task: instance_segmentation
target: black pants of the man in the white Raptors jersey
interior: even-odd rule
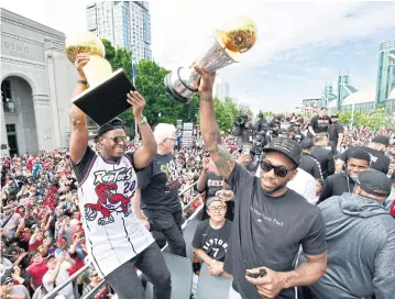
[[[139,255],[129,259],[106,276],[106,281],[119,299],[144,299],[144,288],[135,272],[140,269],[154,287],[154,299],[169,299],[172,278],[163,254],[156,243],[152,243]]]

